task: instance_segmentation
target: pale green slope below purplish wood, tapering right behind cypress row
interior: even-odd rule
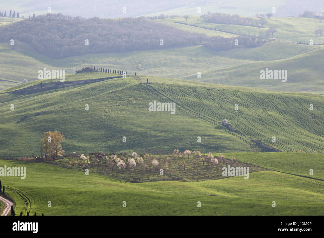
[[[194,72],[221,69],[249,60],[231,59],[203,46],[184,47],[168,50],[134,51],[128,53],[88,54],[53,60],[33,51],[20,43],[19,50],[11,50],[7,43],[0,44],[0,79],[21,83],[23,79],[37,80],[38,70],[64,69],[66,74],[75,73],[86,66],[128,70],[145,75],[157,75],[170,78],[182,77]],[[5,84],[6,83],[6,84]],[[0,81],[0,89],[13,86],[14,83]]]

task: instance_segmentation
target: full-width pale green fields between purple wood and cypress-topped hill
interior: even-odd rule
[[[222,52],[195,46],[119,54],[88,54],[59,60],[40,55],[23,43],[19,43],[17,48],[11,50],[8,44],[0,45],[3,56],[0,59],[0,89],[18,85],[23,79],[38,80],[38,70],[43,68],[64,69],[65,73],[69,74],[81,67],[96,65],[129,70],[131,74],[137,72],[142,75],[210,83],[324,94],[321,80],[323,48],[320,46],[275,41],[258,48]],[[287,83],[276,82],[278,80],[260,80],[260,70],[266,67],[288,70]],[[201,78],[197,78],[197,72],[202,72]],[[237,78],[237,75],[241,77]]]

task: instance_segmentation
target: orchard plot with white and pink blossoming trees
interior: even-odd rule
[[[226,158],[212,152],[206,154],[200,151],[175,149],[169,155],[139,154],[105,154],[103,156],[85,155],[65,156],[64,159],[49,161],[62,167],[120,178],[129,182],[149,181],[200,181],[206,179],[224,178],[222,167],[227,165],[250,167],[250,173],[263,171],[263,168],[249,162],[239,162],[235,157]]]

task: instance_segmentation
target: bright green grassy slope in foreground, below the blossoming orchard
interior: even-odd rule
[[[272,171],[250,174],[249,179],[130,184],[47,164],[0,161],[1,167],[5,164],[26,167],[25,179],[2,178],[17,202],[15,210],[24,214],[28,210],[45,215],[320,215],[324,209],[323,181]]]

